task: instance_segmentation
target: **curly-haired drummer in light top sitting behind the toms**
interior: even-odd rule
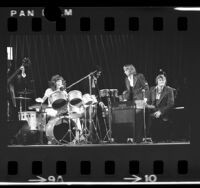
[[[51,77],[51,80],[49,81],[49,88],[46,89],[44,96],[42,98],[36,98],[36,102],[44,103],[46,99],[48,99],[48,106],[52,107],[52,104],[50,102],[50,96],[55,92],[55,91],[63,91],[66,95],[66,100],[67,100],[67,92],[65,90],[66,88],[66,81],[63,79],[62,76],[56,74]]]

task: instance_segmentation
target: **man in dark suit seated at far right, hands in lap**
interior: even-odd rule
[[[166,85],[164,74],[156,77],[156,86],[150,88],[147,107],[149,109],[148,135],[153,141],[169,138],[169,111],[174,105],[173,89]]]

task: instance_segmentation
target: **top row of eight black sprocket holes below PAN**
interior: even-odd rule
[[[19,24],[20,22],[20,24]],[[79,20],[79,29],[82,32],[89,32],[92,30],[93,23],[91,23],[90,17],[81,17]],[[40,32],[43,30],[43,20],[40,17],[31,18],[31,26],[30,30],[33,32]],[[116,21],[114,17],[105,17],[103,18],[104,31],[115,31],[116,29]],[[8,18],[7,21],[7,29],[9,32],[17,32],[23,23],[18,21],[17,18]],[[153,17],[152,19],[152,30],[153,31],[163,31],[164,30],[164,18],[163,17]],[[68,25],[68,27],[70,27]],[[178,31],[187,31],[188,30],[188,19],[187,17],[178,17],[177,18],[177,28]],[[66,18],[60,18],[56,21],[55,24],[56,31],[67,31],[67,21]],[[140,19],[139,17],[129,17],[128,19],[128,31],[139,31],[140,30]]]

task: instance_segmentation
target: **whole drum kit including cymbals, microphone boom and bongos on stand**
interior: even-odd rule
[[[101,140],[97,131],[97,104],[98,100],[95,95],[91,93],[91,82],[94,71],[76,83],[89,78],[90,92],[82,94],[79,90],[71,90],[67,93],[62,90],[56,90],[49,96],[51,107],[43,104],[36,103],[22,111],[22,100],[30,100],[27,95],[31,94],[31,90],[20,91],[19,97],[19,120],[26,120],[31,131],[40,131],[42,135],[46,135],[48,144],[77,144],[77,143],[90,143],[88,138],[93,133],[96,134],[98,140]],[[72,84],[71,86],[75,85]],[[69,89],[69,86],[67,89]],[[24,96],[23,96],[24,95]],[[99,91],[100,98],[105,98],[108,101],[107,116],[111,117],[111,103],[119,100],[117,89],[102,89]],[[103,116],[104,120],[107,116]],[[96,118],[96,119],[95,119]],[[105,121],[104,121],[105,122]],[[109,118],[108,127],[106,127],[106,135],[103,139],[109,141],[111,139],[111,118]],[[91,128],[92,127],[92,128]],[[100,129],[100,128],[99,128]],[[43,138],[41,138],[43,140]],[[43,143],[43,141],[41,141]]]

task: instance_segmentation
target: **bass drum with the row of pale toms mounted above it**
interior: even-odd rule
[[[97,99],[93,95],[84,94],[81,91],[72,90],[67,99],[63,97],[62,91],[51,95],[52,108],[57,115],[46,124],[46,136],[49,144],[74,144],[88,143],[88,135],[85,133],[88,109],[92,108],[92,118],[95,116],[95,105]],[[87,129],[88,130],[88,129]]]

